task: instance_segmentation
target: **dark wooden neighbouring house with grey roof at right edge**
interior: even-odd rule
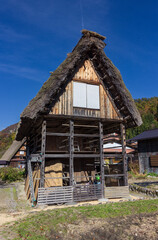
[[[140,173],[158,173],[158,128],[145,131],[131,141],[138,142]]]

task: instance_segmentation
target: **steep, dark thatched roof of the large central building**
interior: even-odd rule
[[[119,70],[113,65],[104,52],[104,36],[91,31],[83,30],[82,37],[73,51],[61,65],[51,73],[49,79],[43,84],[40,91],[33,98],[21,114],[21,122],[18,127],[17,140],[26,136],[29,126],[43,114],[48,114],[59,98],[61,91],[72,80],[75,73],[86,59],[89,59],[95,68],[99,78],[115,105],[120,109],[123,117],[128,116],[127,126],[139,126],[142,124],[140,114],[135,103],[124,85]]]

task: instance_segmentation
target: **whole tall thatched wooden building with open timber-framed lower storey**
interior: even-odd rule
[[[119,197],[128,195],[125,128],[142,121],[118,70],[103,51],[105,37],[82,33],[72,53],[21,115],[16,138],[27,137],[25,190],[32,204],[110,198],[118,192],[116,186],[121,189]],[[74,92],[74,85],[81,90]],[[83,95],[82,89],[92,92]],[[93,101],[81,104],[82,96],[88,103]],[[122,153],[104,154],[103,139],[114,132],[121,135]],[[110,163],[113,158],[119,159],[118,165]]]

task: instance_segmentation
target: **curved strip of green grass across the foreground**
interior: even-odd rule
[[[158,211],[158,199],[69,207],[36,213],[20,222],[15,222],[9,229],[13,236],[16,234],[14,240],[46,240],[50,239],[52,231],[58,234],[60,230],[64,234],[67,224],[73,224],[85,218],[105,219],[156,211]]]

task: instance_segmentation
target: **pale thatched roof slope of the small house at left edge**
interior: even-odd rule
[[[24,138],[22,141],[14,140],[12,145],[6,150],[6,152],[1,157],[0,161],[7,161],[9,162],[12,157],[17,153],[17,151],[22,147],[26,139]]]

